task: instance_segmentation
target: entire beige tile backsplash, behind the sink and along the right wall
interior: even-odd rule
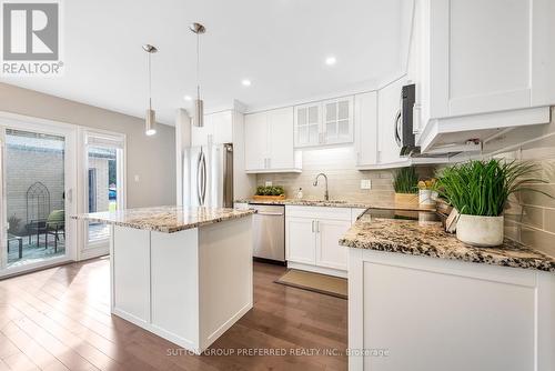
[[[532,184],[532,188],[555,197],[555,108],[552,109],[552,123],[536,130],[542,139],[529,141],[526,138],[525,144],[495,157],[536,162],[538,178],[547,182]],[[521,138],[529,131],[529,128],[519,128],[514,131],[514,136]],[[418,167],[417,171],[421,178],[426,178],[434,173],[434,168]],[[302,173],[258,174],[256,184],[264,186],[266,181],[271,181],[273,186],[283,186],[289,198],[294,198],[299,188],[302,188],[305,199],[323,199],[323,180],[317,187],[312,186],[320,172],[329,178],[332,200],[393,201],[394,170],[356,170],[354,150],[351,147],[304,150]],[[372,189],[361,189],[361,180],[364,179],[371,180]],[[555,198],[531,191],[512,197],[505,211],[505,235],[555,257]]]

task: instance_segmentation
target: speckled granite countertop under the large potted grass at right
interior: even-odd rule
[[[340,240],[349,248],[461,260],[555,272],[555,258],[505,240],[496,248],[476,248],[444,231],[441,222],[363,215]]]

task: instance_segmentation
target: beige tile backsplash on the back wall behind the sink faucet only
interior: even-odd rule
[[[283,186],[287,198],[294,198],[299,188],[303,189],[305,199],[324,198],[324,180],[319,186],[313,182],[320,172],[327,176],[331,200],[346,201],[393,201],[393,171],[355,169],[355,156],[352,147],[313,149],[303,151],[302,173],[258,174],[256,184],[264,186],[271,181],[273,186]],[[418,168],[418,174],[427,177],[433,170],[430,167]],[[369,179],[372,188],[361,189],[361,180]]]

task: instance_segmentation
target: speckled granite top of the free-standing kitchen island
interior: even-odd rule
[[[221,208],[155,207],[93,212],[79,214],[73,217],[73,219],[174,233],[230,219],[243,218],[252,213],[255,213],[255,211]]]

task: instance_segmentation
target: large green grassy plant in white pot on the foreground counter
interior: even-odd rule
[[[503,212],[509,195],[525,189],[544,193],[525,187],[545,182],[533,178],[536,171],[537,167],[531,162],[498,159],[474,160],[445,168],[437,190],[460,213],[457,239],[476,247],[502,244]]]

